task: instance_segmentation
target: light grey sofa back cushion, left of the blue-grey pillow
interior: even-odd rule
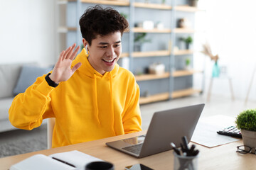
[[[13,96],[14,86],[21,72],[21,64],[0,65],[0,98]]]

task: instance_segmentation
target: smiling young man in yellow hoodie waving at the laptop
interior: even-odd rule
[[[61,52],[51,74],[14,98],[12,125],[32,130],[43,119],[55,118],[53,147],[142,130],[139,86],[134,75],[117,64],[127,28],[114,9],[88,8],[80,18],[87,52],[84,48],[75,58],[75,44]]]

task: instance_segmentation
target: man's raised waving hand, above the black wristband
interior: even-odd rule
[[[72,61],[75,58],[75,55],[78,53],[80,46],[75,48],[75,44],[71,47],[68,47],[65,51],[60,53],[60,57],[53,68],[52,74],[50,74],[50,79],[56,84],[59,84],[61,81],[67,81],[72,77],[74,72],[82,65],[82,63],[75,64],[71,69]],[[75,50],[74,50],[75,49]]]

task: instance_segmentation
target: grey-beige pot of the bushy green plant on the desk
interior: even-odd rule
[[[250,130],[241,130],[242,141],[248,147],[256,147],[256,132]]]

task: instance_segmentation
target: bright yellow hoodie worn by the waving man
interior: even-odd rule
[[[72,66],[78,62],[82,66],[56,88],[48,86],[43,75],[18,94],[9,109],[11,124],[32,130],[44,118],[56,118],[53,147],[142,130],[134,75],[118,64],[111,72],[98,73],[88,62],[85,49]]]

